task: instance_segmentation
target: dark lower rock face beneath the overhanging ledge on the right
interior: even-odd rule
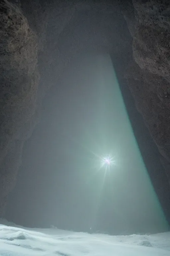
[[[137,110],[142,114],[155,143],[169,159],[169,150],[165,147],[170,141],[170,98],[166,97],[168,81],[141,69],[135,62],[129,65],[126,78]]]

